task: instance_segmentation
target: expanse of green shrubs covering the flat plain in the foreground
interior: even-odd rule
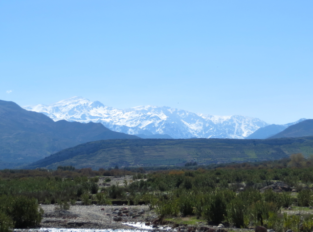
[[[226,223],[237,228],[263,225],[276,232],[313,230],[312,216],[282,213],[290,206],[313,204],[312,159],[306,159],[300,153],[293,154],[290,159],[228,164],[215,169],[184,166],[175,170],[134,170],[138,172],[63,167],[54,171],[2,170],[0,230],[37,225],[42,213],[38,203],[57,203],[56,210],[67,210],[69,202],[75,204],[77,200],[85,205],[112,204],[113,200],[146,204],[161,219],[179,223],[183,223],[183,219],[175,218],[183,216],[190,223]],[[113,182],[111,186],[99,189],[100,180],[105,183],[107,176],[122,175],[133,178],[124,181],[124,186]],[[296,192],[291,193],[289,187],[269,188],[282,182]],[[30,212],[27,217],[24,216],[26,211]]]

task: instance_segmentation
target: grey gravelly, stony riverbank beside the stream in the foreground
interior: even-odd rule
[[[155,212],[149,211],[148,206],[76,205],[69,210],[56,210],[55,205],[42,205],[42,208],[45,213],[40,226],[43,228],[134,229],[123,223],[156,219]]]

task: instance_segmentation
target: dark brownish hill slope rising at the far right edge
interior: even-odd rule
[[[308,119],[303,122],[292,125],[282,132],[269,137],[274,138],[296,138],[304,136],[313,136],[313,119]]]

